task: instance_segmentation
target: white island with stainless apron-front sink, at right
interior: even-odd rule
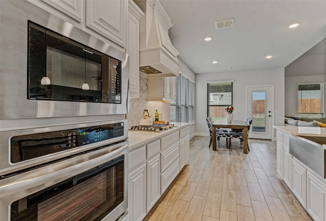
[[[326,220],[326,128],[274,126],[277,177],[314,220]]]

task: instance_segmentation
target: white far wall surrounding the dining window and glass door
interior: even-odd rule
[[[284,125],[284,68],[196,74],[196,135],[208,135],[206,123],[207,81],[223,80],[234,80],[233,106],[236,109],[232,113],[234,120],[244,120],[247,117],[244,109],[246,106],[246,86],[274,85],[274,109],[279,110],[278,114],[274,114],[274,125]]]

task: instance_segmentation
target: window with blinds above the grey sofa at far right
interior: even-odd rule
[[[300,117],[323,115],[323,84],[298,84],[298,114]]]

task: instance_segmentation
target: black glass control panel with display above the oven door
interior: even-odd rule
[[[124,123],[14,136],[10,139],[11,163],[123,136]]]

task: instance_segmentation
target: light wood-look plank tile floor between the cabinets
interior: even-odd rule
[[[285,184],[276,177],[276,142],[225,140],[218,150],[209,137],[190,142],[189,165],[148,220],[312,220]]]

